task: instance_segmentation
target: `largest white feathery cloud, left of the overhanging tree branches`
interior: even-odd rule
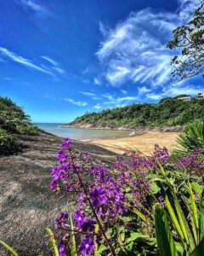
[[[199,0],[179,0],[177,12],[142,9],[106,28],[99,24],[104,40],[97,52],[105,66],[105,79],[114,87],[128,81],[158,87],[171,78],[169,62],[175,52],[167,49],[172,31],[190,18]]]

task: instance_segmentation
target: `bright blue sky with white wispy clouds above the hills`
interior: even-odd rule
[[[199,77],[171,82],[166,48],[196,0],[0,0],[0,95],[34,122],[195,95]]]

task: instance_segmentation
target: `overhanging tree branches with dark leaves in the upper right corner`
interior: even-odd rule
[[[181,49],[171,61],[173,80],[181,80],[201,74],[204,78],[204,2],[195,9],[192,20],[186,26],[178,26],[173,31],[173,39],[167,44],[169,49]]]

